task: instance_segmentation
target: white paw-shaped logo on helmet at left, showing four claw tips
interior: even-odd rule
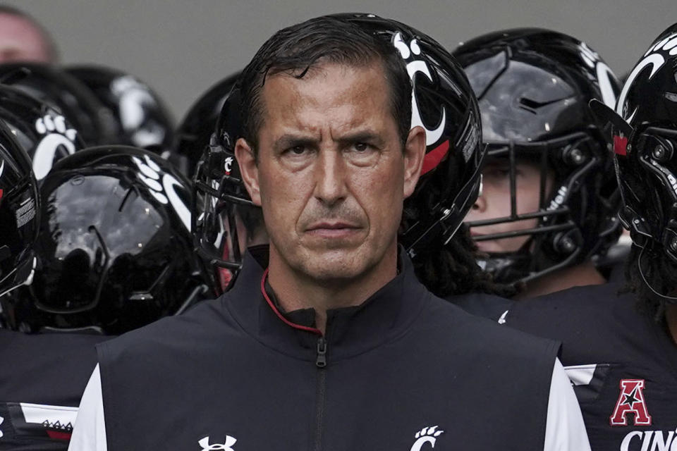
[[[75,137],[78,132],[68,128],[63,116],[49,114],[35,121],[35,131],[42,135],[42,140],[33,154],[33,172],[37,180],[42,180],[51,171],[55,159],[75,152]]]

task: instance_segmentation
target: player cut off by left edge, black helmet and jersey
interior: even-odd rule
[[[35,276],[41,198],[28,154],[0,121],[0,450],[63,451],[102,335],[8,330]]]

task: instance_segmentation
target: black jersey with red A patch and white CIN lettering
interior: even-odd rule
[[[607,283],[515,302],[508,326],[561,340],[592,450],[677,450],[677,347]]]

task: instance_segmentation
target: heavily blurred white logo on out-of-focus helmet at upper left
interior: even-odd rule
[[[147,121],[147,108],[157,108],[157,103],[148,87],[131,75],[116,78],[111,82],[111,92],[118,97],[120,122],[124,130],[132,132],[132,142],[137,147],[161,144],[164,130]]]

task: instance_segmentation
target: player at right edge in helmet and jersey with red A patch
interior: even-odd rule
[[[499,321],[562,340],[593,450],[677,449],[676,93],[677,24],[640,57],[615,112],[593,104],[614,129],[626,282],[515,302]]]

